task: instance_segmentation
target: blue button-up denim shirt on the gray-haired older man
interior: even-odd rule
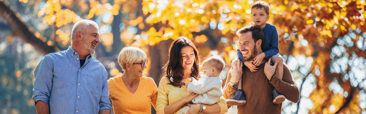
[[[79,55],[71,46],[47,54],[34,71],[34,102],[42,100],[51,114],[98,114],[111,110],[107,71],[91,55],[80,66]]]

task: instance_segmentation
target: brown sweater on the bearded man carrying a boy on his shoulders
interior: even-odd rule
[[[247,67],[243,67],[242,88],[247,104],[238,106],[238,114],[280,114],[281,104],[273,104],[273,88],[282,93],[286,99],[297,103],[300,99],[299,88],[292,78],[290,69],[287,65],[283,65],[283,80],[277,76],[273,76],[269,82],[264,74],[265,63],[259,65],[257,72],[250,72]],[[226,86],[224,87],[225,99],[231,98],[236,89],[228,85],[231,74],[228,74]],[[228,105],[228,107],[230,107]]]

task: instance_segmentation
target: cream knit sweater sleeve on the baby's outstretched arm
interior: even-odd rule
[[[187,91],[194,92],[196,94],[203,94],[215,87],[214,80],[211,78],[205,78],[205,80],[202,81],[203,82],[198,81],[199,83],[189,83],[187,86]]]

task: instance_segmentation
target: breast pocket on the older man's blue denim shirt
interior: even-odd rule
[[[85,80],[86,89],[92,94],[100,95],[102,92],[102,76],[97,73],[87,73]]]

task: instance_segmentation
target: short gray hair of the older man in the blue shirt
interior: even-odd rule
[[[72,27],[71,39],[74,39],[74,35],[76,34],[77,31],[81,31],[84,34],[85,28],[89,25],[94,25],[98,29],[98,24],[93,20],[87,20],[87,19],[78,20],[78,22],[76,22]]]

